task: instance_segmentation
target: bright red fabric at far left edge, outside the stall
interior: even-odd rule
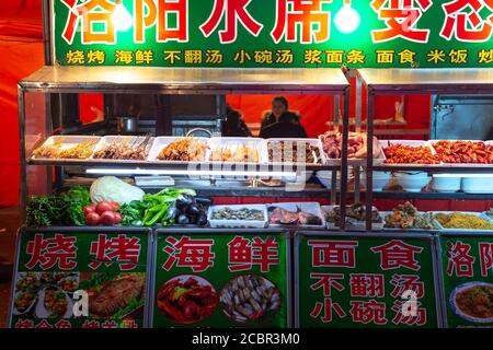
[[[0,1],[0,206],[19,200],[18,82],[43,67],[39,0]]]

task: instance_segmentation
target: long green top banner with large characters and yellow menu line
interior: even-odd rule
[[[484,0],[53,0],[60,65],[492,67]]]

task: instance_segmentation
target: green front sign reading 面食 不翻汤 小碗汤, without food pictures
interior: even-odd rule
[[[299,327],[438,327],[427,237],[298,235]]]

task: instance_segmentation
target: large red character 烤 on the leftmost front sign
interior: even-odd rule
[[[89,264],[91,269],[98,269],[103,262],[106,266],[118,262],[122,270],[133,270],[139,261],[140,238],[119,234],[108,240],[100,234],[98,241],[91,243],[90,254],[94,256],[94,261]]]

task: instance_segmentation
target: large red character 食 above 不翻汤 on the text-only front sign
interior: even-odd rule
[[[414,255],[423,252],[422,247],[394,240],[378,247],[372,247],[371,252],[380,254],[380,267],[383,270],[404,267],[417,271],[421,268]]]

